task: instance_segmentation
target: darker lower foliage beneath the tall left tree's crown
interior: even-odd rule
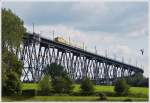
[[[12,55],[11,68],[7,65],[8,53]],[[19,95],[21,93],[21,71],[22,63],[17,60],[17,57],[7,51],[2,55],[2,95]]]

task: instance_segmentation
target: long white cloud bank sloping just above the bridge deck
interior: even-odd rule
[[[26,25],[28,31],[32,32],[32,26]],[[41,36],[52,39],[52,31],[55,31],[56,36],[63,36],[66,40],[71,38],[71,41],[76,41],[80,46],[83,42],[88,47],[87,50],[90,52],[95,52],[94,46],[97,47],[98,54],[105,56],[107,49],[108,57],[114,59],[116,55],[116,60],[122,61],[124,58],[125,63],[131,65],[136,64],[136,60],[141,61],[138,66],[144,65],[145,70],[147,70],[148,63],[145,60],[147,57],[140,57],[140,53],[137,53],[135,49],[127,44],[124,44],[124,39],[114,36],[114,34],[109,34],[105,32],[83,32],[74,29],[73,27],[68,27],[65,25],[37,25],[35,26],[35,32],[41,32]],[[128,35],[131,35],[130,33]],[[123,43],[122,43],[123,42]],[[139,60],[140,59],[140,60]],[[145,60],[145,61],[144,61]],[[142,62],[143,61],[143,62]],[[147,72],[145,72],[147,75]]]

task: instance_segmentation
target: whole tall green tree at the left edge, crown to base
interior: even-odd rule
[[[23,21],[10,9],[2,9],[2,95],[18,95],[21,92],[22,63],[17,51],[25,34]]]

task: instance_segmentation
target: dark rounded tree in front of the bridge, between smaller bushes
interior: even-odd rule
[[[47,65],[44,70],[45,74],[51,76],[52,87],[56,93],[70,93],[73,89],[73,82],[64,70],[63,66],[52,63]]]

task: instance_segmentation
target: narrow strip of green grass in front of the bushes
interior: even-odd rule
[[[108,97],[107,101],[124,101],[125,99],[133,101],[148,101],[148,98],[131,97]],[[3,97],[2,101],[99,101],[97,96],[34,96],[34,97]]]

